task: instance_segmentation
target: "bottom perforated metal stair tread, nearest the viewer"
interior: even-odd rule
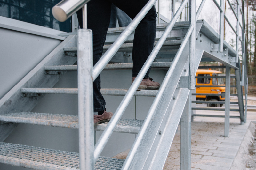
[[[31,169],[79,169],[79,153],[0,142],[0,163]],[[119,170],[123,159],[99,157],[95,169]]]

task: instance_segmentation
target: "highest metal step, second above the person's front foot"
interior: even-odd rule
[[[170,50],[178,50],[180,47],[180,44],[183,40],[170,40],[165,41],[160,51],[170,51]],[[155,42],[154,46],[156,45],[157,41]],[[111,47],[112,44],[107,44],[103,46],[103,53],[105,53],[108,48]],[[117,52],[132,52],[132,46],[133,43],[125,43],[123,44],[120,49]],[[71,48],[63,48],[65,55],[68,56],[77,56],[77,47],[71,47]]]

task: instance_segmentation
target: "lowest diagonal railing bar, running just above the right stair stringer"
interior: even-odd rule
[[[156,108],[157,108],[157,106],[159,104],[159,101],[161,101],[161,98],[162,98],[162,96],[164,94],[164,91],[165,91],[165,88],[166,88],[166,86],[168,84],[168,81],[170,80],[171,75],[174,73],[174,69],[177,66],[177,63],[178,63],[179,58],[180,58],[180,55],[181,55],[183,49],[185,48],[185,46],[186,46],[186,44],[187,44],[187,42],[188,42],[188,40],[190,38],[190,35],[191,35],[191,33],[192,33],[194,28],[195,28],[194,25],[191,25],[189,27],[188,32],[186,33],[186,35],[185,35],[185,37],[184,37],[184,39],[183,39],[183,41],[182,41],[182,43],[180,45],[180,48],[179,48],[178,52],[176,53],[176,55],[175,55],[175,57],[174,57],[174,59],[172,61],[172,65],[169,68],[169,70],[168,70],[168,72],[167,72],[167,74],[166,74],[166,76],[164,78],[164,81],[163,81],[163,83],[162,83],[162,85],[161,85],[161,87],[160,87],[160,89],[159,89],[159,91],[158,91],[158,93],[156,95],[156,98],[153,101],[153,104],[151,105],[151,107],[150,107],[150,109],[148,111],[147,117],[144,120],[144,122],[143,122],[143,124],[142,124],[142,126],[140,128],[139,133],[137,134],[137,137],[136,137],[136,139],[134,141],[134,144],[132,145],[132,148],[131,148],[129,154],[127,155],[127,157],[125,159],[125,162],[124,162],[124,165],[122,167],[122,170],[126,170],[126,169],[129,168],[129,166],[130,166],[130,164],[132,162],[132,159],[134,158],[134,156],[136,154],[136,151],[139,148],[140,142],[142,141],[143,136],[144,136],[144,134],[145,134],[145,132],[146,132],[146,130],[148,128],[148,125],[151,122],[151,120],[152,120],[152,118],[153,118],[153,116],[155,114],[155,111],[156,111]]]

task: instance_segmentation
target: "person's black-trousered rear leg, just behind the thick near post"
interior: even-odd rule
[[[107,0],[92,0],[87,4],[87,25],[93,33],[93,66],[103,53],[110,21],[111,3]],[[82,28],[82,10],[77,11],[77,18]],[[99,115],[104,113],[106,102],[100,93],[100,75],[93,82],[93,110]]]

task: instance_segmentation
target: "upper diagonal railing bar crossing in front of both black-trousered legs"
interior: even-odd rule
[[[94,65],[92,71],[93,81],[99,76],[100,72],[105,68],[111,58],[116,54],[118,49],[122,46],[127,37],[133,32],[136,26],[139,25],[140,21],[148,13],[150,8],[155,4],[156,0],[149,0],[148,3],[142,8],[142,10],[136,15],[132,22],[124,29],[123,33],[119,35],[116,41],[111,47],[105,52],[100,60]]]

